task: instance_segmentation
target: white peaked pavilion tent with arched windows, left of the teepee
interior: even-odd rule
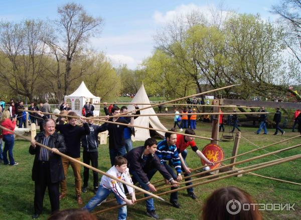
[[[84,81],[79,85],[79,87],[69,96],[64,96],[64,101],[69,104],[72,111],[76,112],[78,115],[82,115],[82,108],[86,102],[91,102],[92,104],[100,103],[100,97],[94,96],[86,87]],[[94,115],[99,115],[99,105],[94,105]]]

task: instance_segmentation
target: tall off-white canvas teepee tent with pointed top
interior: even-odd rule
[[[138,92],[136,93],[136,95],[134,96],[134,98],[131,101],[132,103],[149,103],[149,99],[147,97],[147,94],[145,92],[144,86],[142,84],[142,86],[140,87],[140,89],[138,90]],[[139,108],[143,108],[146,107],[148,105],[138,105]],[[134,106],[133,105],[128,105],[127,106],[128,111],[132,111],[134,110]],[[148,108],[148,109],[144,109],[140,111],[140,114],[156,114],[156,112],[154,111],[153,108]],[[152,127],[155,129],[161,129],[161,130],[166,130],[166,127],[161,124],[158,116],[143,116],[143,117],[138,117],[135,119],[134,121],[134,125],[139,125],[139,126],[143,126],[143,127]],[[150,126],[149,126],[150,125]],[[157,133],[159,133],[161,136],[165,135],[165,132],[161,132],[161,131],[157,131]],[[148,129],[144,129],[144,128],[136,128],[135,127],[135,140],[146,140],[147,138],[149,138],[149,130]]]

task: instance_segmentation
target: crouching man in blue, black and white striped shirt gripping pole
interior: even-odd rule
[[[177,151],[177,134],[173,134],[170,132],[165,133],[165,140],[160,141],[157,146],[156,154],[161,160],[161,164],[163,164],[167,171],[173,176],[174,180],[178,182],[182,180],[182,170],[181,170],[181,160]],[[167,163],[169,162],[169,164]],[[177,175],[174,172],[174,169],[171,165],[176,169]],[[153,169],[151,171],[150,176],[153,176],[157,172],[157,169]],[[171,189],[176,189],[177,187],[171,187]],[[180,208],[180,204],[178,203],[178,192],[172,192],[170,202],[174,207]]]

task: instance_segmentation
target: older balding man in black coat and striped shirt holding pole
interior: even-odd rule
[[[42,213],[46,187],[48,188],[51,212],[59,210],[59,183],[65,178],[61,156],[56,154],[66,151],[64,137],[55,132],[53,119],[44,120],[44,130],[36,135],[29,148],[30,154],[35,154],[32,170],[32,179],[35,181],[35,213],[32,218],[38,218]],[[51,151],[36,145],[37,142],[50,147]]]

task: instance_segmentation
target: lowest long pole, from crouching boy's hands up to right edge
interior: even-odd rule
[[[161,192],[161,193],[158,193],[157,195],[164,195],[164,194],[167,194],[167,193],[177,192],[177,191],[184,190],[184,189],[187,189],[187,188],[192,188],[192,187],[195,187],[195,186],[198,186],[198,185],[207,184],[207,183],[210,183],[210,182],[214,182],[214,181],[218,181],[218,180],[221,180],[221,179],[236,176],[238,174],[243,174],[243,173],[247,173],[247,172],[250,172],[250,171],[266,168],[266,167],[269,167],[269,166],[274,166],[274,165],[277,165],[277,164],[281,164],[281,163],[284,163],[284,162],[287,162],[287,161],[296,160],[296,159],[299,159],[299,158],[301,158],[301,154],[297,154],[297,155],[294,155],[294,156],[291,156],[291,157],[285,157],[285,158],[265,162],[264,165],[263,164],[255,164],[256,167],[248,169],[248,170],[241,170],[241,171],[235,172],[233,174],[228,174],[228,175],[221,176],[221,177],[218,177],[218,178],[198,182],[198,183],[195,183],[195,184],[192,184],[192,185],[188,185],[188,186],[180,187],[180,188],[177,188],[177,189]],[[212,176],[210,176],[210,177],[212,177]],[[139,199],[136,200],[136,202],[147,200],[149,198],[151,198],[151,196],[147,196],[147,197],[144,197],[144,198],[139,198]],[[106,211],[109,211],[109,210],[112,210],[112,209],[115,209],[115,208],[122,207],[124,205],[126,205],[126,204],[116,205],[116,206],[113,206],[113,207],[110,207],[110,208],[106,208],[106,209],[103,209],[103,210],[100,210],[100,211],[96,211],[93,214],[103,213],[103,212],[106,212]]]

